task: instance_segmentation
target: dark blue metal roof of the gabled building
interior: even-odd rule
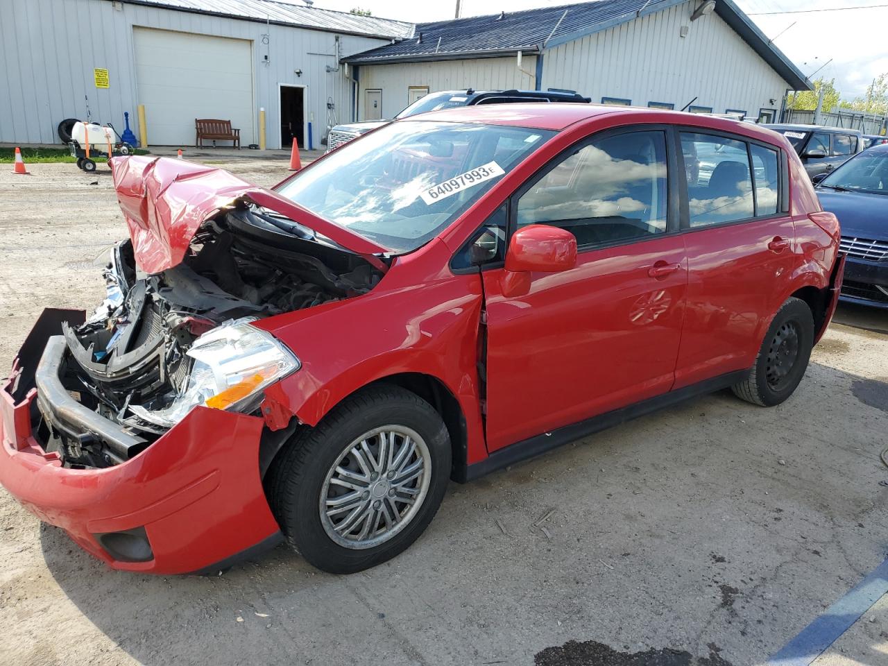
[[[409,39],[345,58],[354,65],[418,62],[539,53],[622,23],[662,12],[686,0],[599,0],[598,2],[501,12],[466,19],[418,23]],[[796,90],[811,83],[771,44],[732,0],[717,0],[716,13]]]

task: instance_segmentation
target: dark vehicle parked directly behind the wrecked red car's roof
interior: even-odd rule
[[[400,114],[394,116],[394,120],[408,118],[411,115],[424,114],[429,111],[440,111],[444,108],[473,107],[477,104],[514,104],[516,102],[575,102],[589,104],[591,99],[583,97],[576,91],[557,90],[550,88],[547,91],[475,91],[472,88],[463,91],[431,92],[417,99]],[[362,123],[340,124],[333,127],[327,136],[327,152],[336,150],[346,141],[357,139],[361,134],[376,130],[390,120],[369,120]]]

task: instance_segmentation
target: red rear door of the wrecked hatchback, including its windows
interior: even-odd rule
[[[797,264],[779,151],[712,133],[680,138],[688,288],[676,388],[752,366]]]

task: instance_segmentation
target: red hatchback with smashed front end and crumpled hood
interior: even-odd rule
[[[119,569],[286,538],[359,571],[450,479],[702,392],[779,404],[842,279],[787,140],[718,118],[440,111],[273,190],[113,171],[131,238],[96,312],[46,310],[22,347],[0,481]]]

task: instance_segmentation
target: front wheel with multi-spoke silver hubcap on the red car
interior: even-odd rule
[[[379,456],[384,446],[393,452],[391,466]],[[399,452],[405,452],[400,468]],[[410,469],[420,462],[416,476]],[[376,385],[344,400],[316,427],[297,431],[266,475],[266,496],[290,546],[314,567],[353,574],[392,559],[424,532],[444,497],[450,462],[438,412],[399,386]],[[357,476],[349,488],[338,485]],[[408,476],[415,478],[399,485]]]

